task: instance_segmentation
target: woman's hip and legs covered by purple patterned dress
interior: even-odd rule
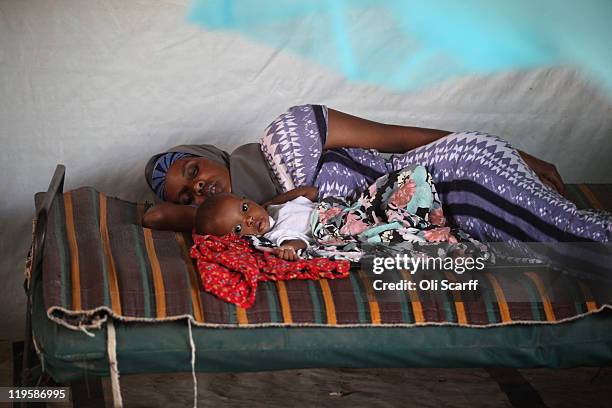
[[[497,136],[453,133],[389,159],[413,163],[432,174],[446,216],[482,241],[612,241],[611,215],[578,211]]]

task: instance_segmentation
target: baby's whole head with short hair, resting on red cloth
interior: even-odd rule
[[[248,198],[232,193],[215,194],[198,207],[195,229],[198,234],[222,236],[263,235],[270,230],[268,212]]]

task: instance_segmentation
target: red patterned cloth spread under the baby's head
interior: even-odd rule
[[[327,258],[285,261],[259,252],[237,235],[193,234],[191,257],[197,260],[204,290],[226,302],[249,308],[255,303],[257,283],[291,279],[338,279],[349,274],[349,261]]]

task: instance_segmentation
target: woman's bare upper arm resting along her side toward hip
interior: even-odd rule
[[[361,147],[380,152],[405,153],[451,132],[411,126],[387,125],[328,109],[325,149]]]

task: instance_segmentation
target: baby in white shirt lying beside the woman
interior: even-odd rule
[[[202,235],[263,235],[274,244],[274,255],[295,261],[296,250],[313,242],[310,218],[316,207],[316,187],[299,187],[263,205],[232,193],[209,197],[198,207],[195,230]]]

